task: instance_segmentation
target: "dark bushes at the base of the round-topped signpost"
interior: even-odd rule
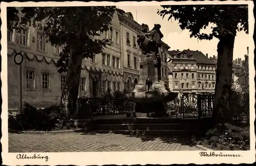
[[[70,122],[61,119],[61,109],[52,105],[44,109],[37,109],[29,103],[24,103],[21,114],[8,116],[8,127],[14,130],[50,131],[55,127],[70,127]]]

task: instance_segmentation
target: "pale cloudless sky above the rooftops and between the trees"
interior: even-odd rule
[[[155,23],[161,25],[161,32],[163,33],[163,42],[170,46],[169,50],[199,50],[204,54],[208,53],[208,57],[213,55],[217,56],[217,44],[219,40],[214,38],[212,40],[198,40],[196,38],[190,38],[188,30],[182,31],[178,24],[178,21],[169,20],[168,17],[162,17],[157,14],[160,6],[117,6],[117,8],[124,10],[125,12],[131,12],[134,20],[139,24],[145,23],[150,29]],[[137,16],[136,16],[137,12]],[[211,32],[210,26],[202,31],[204,33]],[[245,32],[238,32],[234,41],[233,59],[241,58],[244,60],[244,55],[247,54],[247,42],[249,35]]]

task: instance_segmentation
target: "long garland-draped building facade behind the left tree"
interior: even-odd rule
[[[22,92],[23,101],[36,107],[59,103],[61,91],[67,79],[66,73],[58,73],[55,67],[59,59],[60,46],[51,46],[42,34],[41,22],[30,21],[24,30],[8,31],[8,104],[18,107],[19,75],[14,63],[15,52],[22,52]],[[112,20],[112,31],[101,38],[113,41],[102,54],[82,62],[79,96],[97,96],[107,88],[123,89],[123,61],[120,22],[117,13]]]

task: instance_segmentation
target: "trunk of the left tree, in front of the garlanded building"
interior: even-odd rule
[[[69,67],[67,71],[67,81],[62,90],[60,107],[63,114],[67,118],[72,118],[76,110],[76,102],[78,97],[78,88],[80,84],[82,55],[76,55],[71,49]]]

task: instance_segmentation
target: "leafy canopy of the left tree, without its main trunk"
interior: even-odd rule
[[[69,63],[70,48],[76,54],[82,54],[83,58],[92,59],[110,44],[108,39],[97,37],[111,29],[114,12],[114,6],[8,7],[7,24],[9,30],[19,30],[28,21],[41,22],[47,42],[63,46],[57,67],[59,72],[64,72]]]

